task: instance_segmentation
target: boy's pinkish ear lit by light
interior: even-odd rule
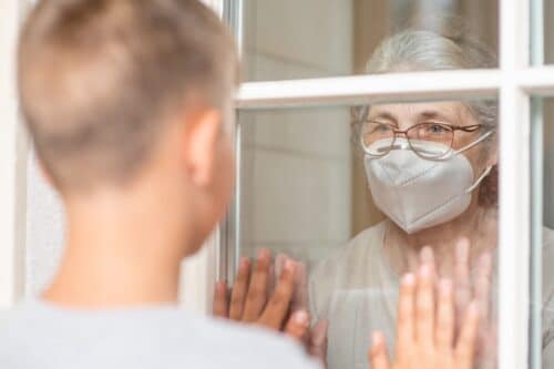
[[[189,177],[195,185],[207,186],[217,167],[222,114],[215,109],[195,111],[187,117],[184,134],[184,154]]]

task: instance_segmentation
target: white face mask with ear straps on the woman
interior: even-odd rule
[[[366,175],[376,205],[408,234],[455,218],[470,206],[472,191],[492,170],[489,166],[474,180],[473,167],[460,153],[489,134],[440,160],[418,156],[401,137],[382,157],[366,154]],[[390,140],[373,143],[378,146],[389,144]],[[445,152],[438,143],[420,142],[418,145],[430,153]],[[378,152],[378,147],[373,148],[372,152]]]

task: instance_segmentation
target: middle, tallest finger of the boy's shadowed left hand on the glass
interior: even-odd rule
[[[269,280],[269,266],[271,264],[271,253],[267,248],[258,252],[256,266],[250,277],[248,294],[243,314],[244,321],[256,321],[261,315],[261,310],[267,301],[267,284]]]

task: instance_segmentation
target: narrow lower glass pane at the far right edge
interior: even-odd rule
[[[532,339],[533,368],[554,367],[554,99],[533,101]],[[542,355],[538,352],[542,351]],[[538,358],[542,357],[542,366]]]

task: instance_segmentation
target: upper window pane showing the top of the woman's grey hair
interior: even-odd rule
[[[375,65],[366,68],[369,55],[384,37],[408,29],[434,31],[456,40],[464,38],[494,53],[497,50],[497,0],[244,0],[243,3],[248,81],[379,72]],[[452,44],[433,39],[427,42],[432,52],[420,55],[419,69],[496,66],[494,60],[464,58],[450,65],[434,62],[435,53],[448,51]],[[400,43],[392,47],[400,50],[409,45]],[[468,54],[462,51],[459,55]]]

